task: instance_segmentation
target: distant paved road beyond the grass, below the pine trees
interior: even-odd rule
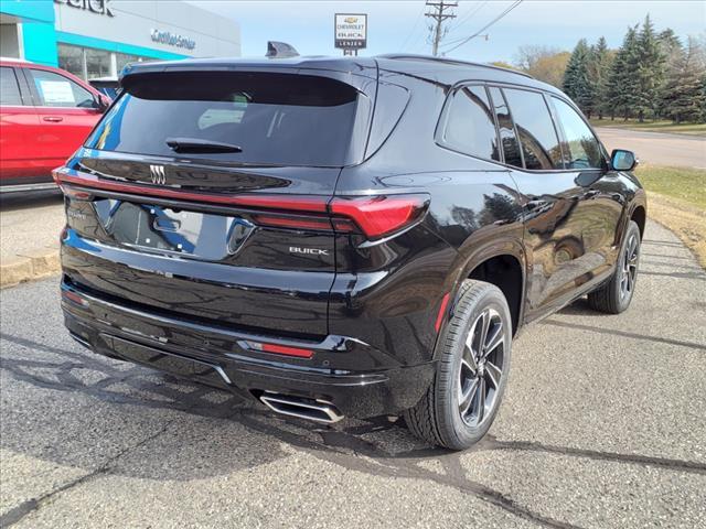
[[[706,169],[706,138],[610,127],[599,127],[596,131],[609,151],[634,151],[641,163]]]

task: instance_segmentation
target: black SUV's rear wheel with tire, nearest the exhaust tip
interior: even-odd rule
[[[485,321],[483,317],[488,317],[488,326],[480,323]],[[501,327],[498,327],[499,323]],[[479,325],[482,327],[480,331]],[[471,331],[472,346],[468,347],[467,338]],[[481,337],[483,331],[485,334]],[[482,339],[492,346],[493,337],[502,342],[492,350],[480,353],[478,360],[473,356],[473,371],[469,352],[473,354],[473,349],[485,350],[486,348],[478,344]],[[411,433],[428,443],[452,450],[466,450],[480,441],[490,429],[507,384],[512,319],[501,290],[482,281],[464,281],[453,316],[440,337],[439,348],[434,382],[421,400],[405,411],[405,421]],[[481,358],[483,354],[486,355],[484,359]],[[493,361],[501,364],[499,370],[499,366]],[[477,380],[475,386],[472,382],[473,377]],[[493,388],[492,381],[495,378],[499,380]],[[480,392],[483,392],[482,399]],[[491,399],[490,404],[486,404],[486,399]],[[468,403],[466,412],[462,411],[464,403]]]

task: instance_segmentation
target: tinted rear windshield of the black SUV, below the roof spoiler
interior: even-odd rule
[[[179,156],[168,141],[180,138],[239,148],[190,152],[190,159],[344,165],[360,97],[349,85],[317,76],[142,74],[126,77],[125,93],[86,147]]]

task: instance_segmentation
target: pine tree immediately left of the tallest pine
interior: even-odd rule
[[[608,75],[606,106],[611,119],[621,116],[627,120],[635,114],[638,55],[638,26],[628,28]]]

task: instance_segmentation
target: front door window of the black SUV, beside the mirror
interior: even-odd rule
[[[566,137],[565,151],[568,153],[569,169],[603,169],[600,143],[588,128],[586,121],[569,105],[552,97],[556,114]]]

